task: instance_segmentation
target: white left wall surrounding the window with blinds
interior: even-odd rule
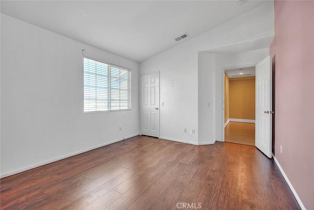
[[[83,113],[82,49],[132,68],[131,111]],[[139,132],[138,63],[3,14],[0,84],[1,177]]]

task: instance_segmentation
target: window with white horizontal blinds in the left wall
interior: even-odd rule
[[[131,71],[84,57],[84,112],[131,109]]]

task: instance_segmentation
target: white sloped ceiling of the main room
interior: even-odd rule
[[[1,0],[1,13],[141,62],[264,2]]]

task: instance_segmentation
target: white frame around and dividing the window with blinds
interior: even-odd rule
[[[117,68],[120,71],[121,70],[128,71],[128,79],[127,79],[128,80],[128,98],[130,98],[128,100],[128,104],[130,104],[130,105],[128,105],[129,108],[126,108],[126,109],[108,109],[108,110],[85,111],[85,59],[89,59],[89,60],[92,60],[92,61],[99,62],[99,63],[107,65],[107,87],[108,87],[108,90],[107,90],[108,91],[108,93],[107,93],[107,98],[108,98],[107,108],[109,108],[109,107],[111,108],[110,104],[112,102],[112,100],[111,100],[111,88],[110,88],[110,84],[111,84],[111,67]],[[112,111],[131,111],[132,110],[132,103],[131,103],[131,101],[132,101],[131,78],[132,78],[131,77],[131,69],[129,69],[129,68],[118,66],[118,65],[115,65],[115,64],[111,64],[111,63],[106,63],[104,61],[100,61],[100,60],[95,59],[95,58],[83,56],[83,113],[84,114],[88,114],[88,113],[112,112]],[[97,100],[95,102],[97,103]],[[119,102],[121,102],[121,98],[120,98]]]

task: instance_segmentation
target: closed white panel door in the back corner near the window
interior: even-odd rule
[[[141,134],[159,137],[159,73],[141,75]]]

